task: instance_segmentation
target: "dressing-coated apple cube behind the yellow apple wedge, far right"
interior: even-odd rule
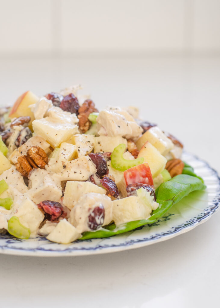
[[[173,142],[157,126],[150,128],[136,141],[136,146],[139,151],[147,141],[162,155],[166,155],[174,147]]]

